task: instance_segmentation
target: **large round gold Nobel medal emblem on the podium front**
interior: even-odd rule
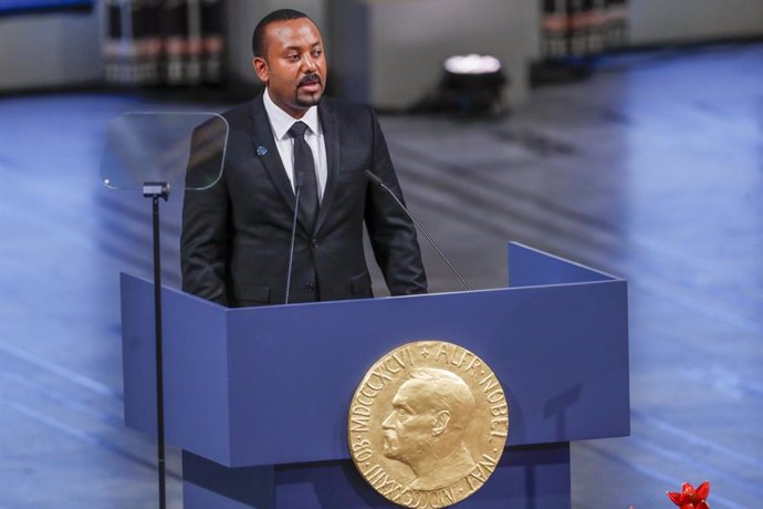
[[[509,404],[493,372],[443,341],[383,356],[349,405],[355,466],[404,507],[447,507],[472,495],[495,470],[508,434]]]

